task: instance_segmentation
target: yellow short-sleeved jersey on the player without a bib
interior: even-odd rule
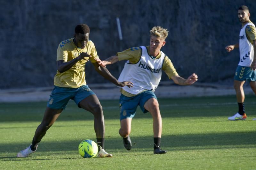
[[[73,38],[60,42],[57,49],[57,61],[63,60],[69,62],[78,57],[82,52],[90,54],[92,57],[86,57],[92,63],[97,62],[95,59],[98,57],[95,46],[91,40],[88,41],[85,48],[78,48],[74,44]],[[87,60],[80,60],[71,67],[71,69],[57,73],[54,77],[54,85],[59,87],[77,88],[86,85],[85,81],[85,63]]]

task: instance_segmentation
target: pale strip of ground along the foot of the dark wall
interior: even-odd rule
[[[112,84],[91,84],[89,87],[100,100],[119,99],[119,88]],[[0,90],[0,102],[48,101],[52,87]],[[250,87],[244,88],[245,94],[254,94]],[[233,86],[201,84],[181,86],[161,83],[155,94],[158,98],[193,97],[193,96],[223,96],[236,95]]]

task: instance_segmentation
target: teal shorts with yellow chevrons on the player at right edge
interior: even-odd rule
[[[251,70],[251,67],[237,66],[235,73],[237,81],[256,81],[256,70]]]

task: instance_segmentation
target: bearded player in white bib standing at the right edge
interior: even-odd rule
[[[230,121],[245,120],[246,114],[244,110],[244,89],[243,85],[246,80],[250,81],[252,91],[256,94],[256,29],[255,25],[250,21],[250,13],[247,6],[238,8],[238,18],[242,23],[239,34],[239,43],[228,45],[226,50],[232,51],[239,48],[240,61],[236,68],[234,88],[236,90],[236,100],[238,104],[238,112],[228,117]],[[255,119],[253,119],[255,120]]]

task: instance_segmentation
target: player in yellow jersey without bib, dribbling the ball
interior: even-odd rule
[[[100,75],[117,86],[131,88],[132,83],[119,82],[106,68],[100,67],[96,61],[97,51],[93,42],[89,40],[89,34],[90,28],[85,24],[79,24],[75,28],[74,38],[60,42],[57,49],[58,70],[54,77],[54,88],[47,103],[44,118],[36,129],[32,144],[20,151],[17,157],[28,157],[36,152],[38,143],[57,120],[70,99],[74,100],[78,107],[94,115],[94,130],[99,144],[98,157],[112,157],[112,154],[104,150],[104,115],[99,99],[86,85],[85,63],[90,60]]]

